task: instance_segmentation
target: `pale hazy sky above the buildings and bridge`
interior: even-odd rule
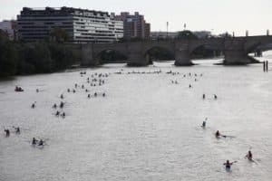
[[[272,33],[272,0],[0,0],[0,21],[16,18],[24,6],[72,6],[120,13],[138,11],[151,23],[151,31],[183,29],[235,32],[244,35]]]

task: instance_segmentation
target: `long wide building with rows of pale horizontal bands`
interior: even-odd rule
[[[24,7],[18,19],[18,37],[22,41],[48,38],[54,28],[69,33],[72,42],[112,43],[123,37],[123,23],[107,12],[71,7],[42,9]]]

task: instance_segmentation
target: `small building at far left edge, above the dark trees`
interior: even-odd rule
[[[5,20],[0,22],[0,30],[7,33],[10,40],[15,40],[17,33],[17,22],[15,20]]]

